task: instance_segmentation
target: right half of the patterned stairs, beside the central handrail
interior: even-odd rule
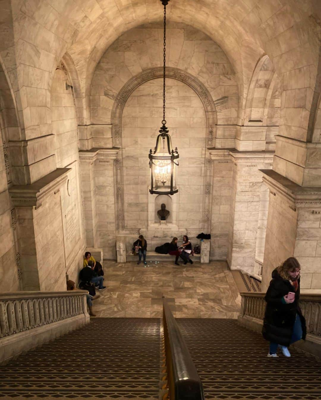
[[[267,358],[268,342],[231,319],[179,318],[206,400],[320,400],[319,358],[290,349]]]

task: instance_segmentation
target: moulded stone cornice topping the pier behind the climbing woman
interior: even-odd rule
[[[273,170],[263,172],[263,182],[274,196],[281,196],[296,208],[321,208],[321,188],[303,187]]]

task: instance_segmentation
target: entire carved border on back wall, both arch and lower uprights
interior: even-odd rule
[[[181,71],[178,68],[168,67],[166,68],[167,78],[172,78],[179,80],[189,86],[201,100],[206,118],[206,137],[205,143],[206,148],[215,147],[216,138],[216,108],[211,97],[211,94],[205,88],[205,86],[193,75]],[[136,88],[140,85],[148,82],[150,80],[158,79],[163,77],[163,67],[150,68],[149,70],[144,70],[140,74],[137,74],[132,79],[130,79],[120,90],[116,99],[114,101],[114,106],[112,108],[111,114],[111,124],[112,124],[112,145],[113,147],[122,147],[122,112],[124,106]],[[212,160],[208,156],[205,156],[205,192],[203,196],[203,229],[209,230],[211,226],[211,177],[212,177]],[[122,159],[117,158],[115,160],[115,200],[116,200],[116,230],[118,234],[132,234],[132,229],[125,228],[124,221],[124,192],[123,192],[123,169],[122,169]],[[135,234],[138,233],[135,231]],[[196,235],[195,235],[196,236]]]

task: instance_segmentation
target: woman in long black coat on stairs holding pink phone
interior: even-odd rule
[[[305,339],[307,330],[299,306],[300,269],[299,261],[290,257],[272,272],[262,329],[263,337],[270,342],[268,357],[278,357],[278,348],[291,357],[288,346]]]

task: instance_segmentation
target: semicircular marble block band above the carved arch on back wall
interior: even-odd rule
[[[163,26],[144,24],[122,34],[96,66],[90,92],[92,124],[110,124],[114,99],[130,78],[163,64]],[[236,124],[238,89],[220,46],[191,26],[168,22],[167,66],[189,72],[209,90],[219,124]],[[228,146],[226,146],[228,147]]]

